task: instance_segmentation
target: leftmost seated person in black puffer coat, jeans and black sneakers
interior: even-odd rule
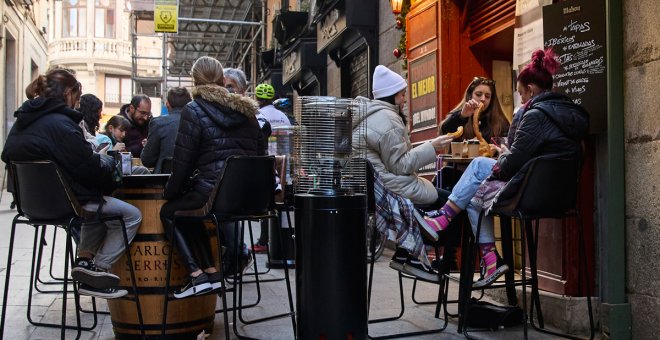
[[[16,123],[7,137],[2,161],[54,162],[82,205],[84,215],[121,215],[130,242],[142,215],[126,202],[103,196],[104,188],[112,182],[114,161],[110,156],[94,153],[85,141],[78,125],[83,114],[73,109],[81,95],[81,85],[73,73],[53,69],[37,77],[25,93],[29,100],[14,113]],[[126,290],[116,289],[119,277],[107,272],[123,252],[118,221],[83,223],[78,258],[71,270],[71,277],[81,283],[78,292],[100,298],[126,295]]]

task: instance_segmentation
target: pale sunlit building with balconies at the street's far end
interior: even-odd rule
[[[134,20],[133,13],[128,0],[50,2],[49,66],[74,70],[83,93],[103,101],[104,115],[119,113],[121,105],[137,93],[151,93],[152,112],[160,113],[160,98],[154,95],[160,88],[137,88],[133,80],[160,79],[162,38],[153,33],[153,21]]]

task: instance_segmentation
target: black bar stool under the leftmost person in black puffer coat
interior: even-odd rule
[[[16,226],[18,224],[27,224],[36,228],[39,226],[54,225],[63,227],[67,233],[64,259],[65,275],[62,283],[62,321],[61,324],[34,322],[30,316],[29,308],[28,321],[35,326],[60,327],[60,336],[62,339],[65,338],[66,329],[75,329],[78,337],[80,337],[82,330],[91,330],[93,327],[82,327],[80,324],[80,301],[77,287],[75,285],[73,287],[73,294],[76,304],[76,327],[66,325],[66,305],[69,284],[69,261],[73,262],[71,226],[76,223],[82,223],[82,207],[78,203],[74,194],[69,190],[69,185],[65,183],[64,176],[55,163],[51,161],[12,162],[11,169],[12,174],[14,175],[14,196],[16,199],[18,214],[14,217],[12,222],[11,235],[9,238],[9,253],[7,255],[7,272],[5,275],[5,289],[2,301],[2,316],[0,317],[0,334],[4,334],[7,294],[9,292],[9,278],[11,276],[11,260]],[[126,235],[126,229],[124,228],[122,216],[103,216],[99,217],[95,222],[103,223],[111,220],[118,220],[121,223],[124,236],[124,246],[126,249],[129,249],[128,237]],[[35,230],[33,254],[37,250],[36,247],[38,247],[36,233],[37,230]],[[127,256],[130,263],[129,267],[133,290],[136,291],[135,272],[133,270],[133,262],[131,261],[130,252],[127,252]],[[32,281],[34,279],[34,261],[31,274]],[[32,285],[33,282],[30,282],[28,306],[31,305]],[[140,329],[143,332],[142,312],[137,293],[133,299],[136,303],[138,317],[140,319]],[[93,326],[95,325],[96,315]]]

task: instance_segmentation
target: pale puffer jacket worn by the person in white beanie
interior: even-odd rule
[[[367,146],[367,159],[388,189],[414,204],[431,204],[438,198],[433,184],[417,176],[417,170],[435,162],[435,149],[425,142],[413,149],[398,108],[381,100],[357,97],[367,102],[367,114],[353,121],[353,130],[366,124],[366,140],[353,135],[354,147]]]

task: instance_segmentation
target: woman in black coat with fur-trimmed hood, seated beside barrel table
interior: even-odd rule
[[[214,266],[204,224],[178,221],[174,225],[174,213],[200,208],[209,200],[228,157],[265,154],[255,118],[259,107],[254,100],[223,87],[222,64],[211,57],[200,57],[191,74],[193,101],[181,112],[172,174],[164,193],[168,202],[160,211],[166,233],[170,239],[176,238],[179,256],[190,275],[174,293],[176,298],[220,288],[221,275]]]

